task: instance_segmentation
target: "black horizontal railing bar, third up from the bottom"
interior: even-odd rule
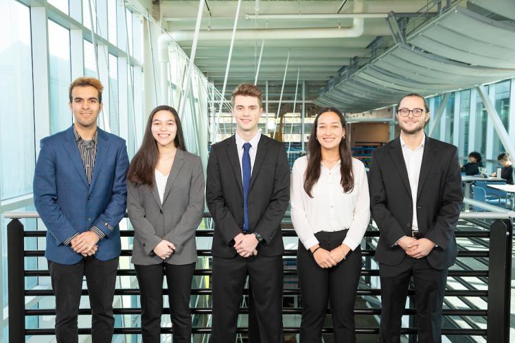
[[[87,296],[87,289],[82,289],[82,296]],[[115,289],[116,296],[138,296],[140,294],[139,288],[124,288],[124,289]],[[163,288],[163,294],[168,294],[168,289]],[[211,288],[193,288],[190,291],[192,296],[210,296],[213,294]],[[248,295],[249,289],[244,288],[243,294]],[[286,288],[283,289],[283,296],[298,296],[300,295],[299,288]],[[377,288],[371,289],[358,289],[356,296],[380,296],[381,290]],[[408,289],[408,296],[414,296],[415,290]],[[52,289],[27,289],[25,290],[25,296],[54,296],[54,292]],[[487,290],[482,289],[446,289],[445,296],[488,296]]]

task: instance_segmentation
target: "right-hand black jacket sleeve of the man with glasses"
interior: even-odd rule
[[[457,147],[453,147],[452,156],[449,158],[443,192],[442,206],[436,217],[435,225],[429,228],[425,237],[445,250],[450,239],[453,239],[455,235],[461,203],[463,202]]]

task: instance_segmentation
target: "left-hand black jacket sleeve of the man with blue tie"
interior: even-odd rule
[[[207,161],[206,200],[209,213],[216,224],[215,230],[220,233],[227,246],[233,244],[233,239],[242,232],[231,211],[225,204],[224,193],[220,180],[220,161],[215,145],[211,147]]]

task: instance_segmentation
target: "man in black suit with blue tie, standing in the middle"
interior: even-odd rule
[[[247,275],[260,342],[283,342],[281,220],[290,195],[288,158],[283,143],[258,130],[260,89],[240,84],[231,101],[236,134],[211,146],[207,164],[206,199],[215,222],[211,342],[235,342]]]

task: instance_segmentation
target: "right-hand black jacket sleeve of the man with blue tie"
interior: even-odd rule
[[[281,229],[281,220],[288,208],[289,200],[290,168],[288,167],[286,147],[282,144],[275,160],[273,193],[261,220],[254,230],[254,233],[259,233],[267,244],[272,241],[276,231]]]

